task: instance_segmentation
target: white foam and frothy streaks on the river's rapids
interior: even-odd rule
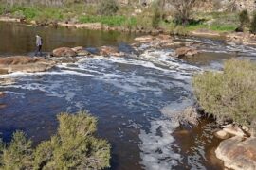
[[[207,49],[201,50],[205,52],[233,53],[239,49],[243,53],[256,54],[256,49],[253,47],[234,44],[222,46],[215,42],[197,42],[211,45],[211,47],[208,46]],[[139,49],[147,47],[147,45],[142,45]],[[219,50],[216,50],[216,48]],[[216,64],[213,65],[214,67],[221,65],[219,62],[213,62],[213,64]],[[179,145],[174,144],[175,139],[172,136],[174,129],[178,127],[174,114],[178,110],[183,110],[192,105],[191,78],[192,74],[200,71],[202,71],[202,68],[174,58],[174,50],[151,49],[145,50],[137,59],[103,58],[99,56],[81,59],[72,64],[60,64],[57,65],[55,70],[49,72],[33,74],[17,72],[0,76],[0,78],[14,78],[17,81],[16,84],[1,87],[7,89],[6,93],[24,99],[26,93],[17,93],[11,90],[25,90],[35,93],[39,91],[46,93],[46,96],[64,99],[68,104],[66,110],[72,110],[71,106],[75,106],[77,110],[83,110],[84,106],[91,103],[90,96],[84,96],[80,100],[77,99],[83,95],[83,86],[88,86],[85,90],[93,91],[94,84],[86,82],[87,78],[101,82],[105,91],[108,91],[109,87],[115,87],[114,90],[111,89],[113,91],[111,93],[124,99],[125,109],[137,110],[138,108],[144,111],[143,117],[150,125],[148,128],[143,127],[134,119],[129,119],[127,124],[122,124],[122,126],[139,130],[138,138],[140,142],[138,146],[141,158],[139,163],[148,170],[166,170],[174,169],[184,159],[179,153]],[[38,80],[41,77],[47,77],[44,84]],[[69,79],[58,79],[58,77]],[[83,79],[86,80],[83,81]],[[170,92],[178,92],[188,97],[182,95],[172,99],[172,101],[160,100],[162,97],[167,97],[166,93],[172,95]],[[94,93],[90,94],[93,95]],[[111,101],[101,102],[113,104]],[[157,108],[157,110],[154,110],[155,114],[160,112],[160,116],[153,116],[154,112],[151,112],[151,108],[154,107]],[[111,118],[118,116],[112,115]],[[118,135],[119,138],[123,138],[125,135],[121,127],[118,129]],[[129,140],[129,143],[132,142],[132,139]],[[202,151],[203,149],[199,150]],[[204,153],[189,157],[189,165],[192,169],[205,169],[202,165],[204,160],[202,155]]]

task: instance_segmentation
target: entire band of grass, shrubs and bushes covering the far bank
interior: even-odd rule
[[[207,28],[233,31],[240,25],[236,12],[196,10],[209,0],[155,0],[144,7],[139,0],[0,0],[0,15],[37,23],[101,23],[138,30],[164,29],[173,33]],[[168,8],[172,4],[174,8]],[[218,7],[216,7],[218,8]],[[243,24],[244,25],[244,24]]]

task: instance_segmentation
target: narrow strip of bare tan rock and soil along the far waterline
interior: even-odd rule
[[[23,23],[23,24],[32,25],[32,26],[55,26],[55,27],[64,26],[64,27],[84,28],[84,29],[91,29],[91,30],[134,32],[137,34],[147,34],[152,36],[156,36],[160,34],[165,34],[165,35],[174,34],[174,32],[170,32],[162,28],[147,30],[143,28],[129,29],[123,26],[106,26],[106,25],[102,25],[101,23],[86,23],[86,24],[68,23],[68,22],[38,23],[35,21],[27,21],[24,19],[11,18],[8,16],[0,16],[0,21],[18,22],[18,23]],[[189,31],[187,34],[188,34],[187,36],[214,38],[214,39],[226,40],[227,42],[243,43],[246,45],[256,45],[256,35],[250,34],[248,32],[245,32],[245,33],[244,32],[218,32],[218,31],[212,31],[205,28],[205,29],[192,30],[192,31]]]

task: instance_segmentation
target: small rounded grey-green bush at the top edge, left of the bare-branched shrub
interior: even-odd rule
[[[119,10],[116,0],[103,0],[99,6],[99,13],[101,15],[114,15]]]

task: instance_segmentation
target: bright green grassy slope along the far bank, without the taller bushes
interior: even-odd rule
[[[132,6],[119,7],[114,15],[99,14],[97,4],[69,4],[62,7],[21,6],[0,4],[0,15],[26,19],[37,23],[68,22],[68,23],[101,23],[105,26],[120,26],[128,29],[154,30],[164,29],[174,34],[188,34],[192,30],[208,29],[217,32],[231,32],[239,26],[237,13],[194,13],[192,22],[187,26],[174,23],[170,16],[153,26],[155,20],[154,8],[142,8],[136,12]]]

